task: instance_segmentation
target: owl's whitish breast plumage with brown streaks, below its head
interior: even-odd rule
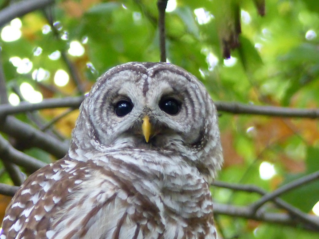
[[[215,238],[208,183],[183,158],[141,150],[99,158],[53,220],[61,236],[82,230],[96,238]]]

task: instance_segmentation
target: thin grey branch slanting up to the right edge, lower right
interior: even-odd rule
[[[264,203],[278,197],[279,195],[288,192],[289,190],[292,190],[294,188],[300,187],[301,185],[304,185],[306,183],[309,183],[311,181],[314,181],[316,179],[319,178],[319,171],[314,172],[312,174],[309,174],[307,176],[298,178],[280,188],[278,188],[277,190],[266,194],[265,196],[263,196],[261,199],[259,199],[257,202],[255,202],[254,204],[251,205],[251,207],[253,208],[253,210],[256,212],[258,210],[258,208],[260,208]],[[319,224],[318,224],[319,225]]]

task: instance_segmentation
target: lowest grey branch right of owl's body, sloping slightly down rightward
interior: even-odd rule
[[[248,206],[233,206],[233,205],[226,205],[214,202],[214,214],[222,214],[228,215],[233,217],[242,217],[247,219],[254,219],[257,221],[264,221],[270,222],[275,224],[287,225],[292,227],[304,228],[308,230],[313,230],[319,232],[318,228],[313,227],[307,223],[300,222],[296,220],[292,216],[286,213],[264,213],[264,214],[254,214]],[[319,219],[317,216],[309,215],[309,217],[313,221],[318,221]]]

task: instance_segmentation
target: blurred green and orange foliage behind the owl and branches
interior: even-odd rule
[[[262,1],[232,1],[237,4],[239,16],[236,9],[222,2],[177,0],[177,8],[166,14],[168,61],[203,81],[214,100],[318,108],[317,2],[267,0],[263,17],[258,15],[256,9]],[[0,6],[6,4],[7,1],[0,1]],[[195,15],[198,9],[206,15],[204,23]],[[46,16],[53,16],[59,37],[52,29],[45,32],[48,28]],[[57,50],[65,52],[74,64],[85,92],[89,91],[101,73],[117,64],[158,61],[157,17],[155,0],[61,0],[46,11],[25,15],[20,18],[22,37],[11,42],[0,40],[8,92],[16,92],[15,88],[27,82],[41,92],[43,98],[79,95],[71,75],[69,83],[63,87],[54,83],[58,69],[70,74],[63,57],[56,60],[48,57]],[[240,45],[231,51],[231,59],[224,60],[219,39],[236,27],[236,19],[241,21]],[[67,53],[74,40],[85,48],[83,55]],[[41,47],[41,54],[35,54],[37,47]],[[17,67],[9,61],[13,56],[28,58],[33,63],[32,70],[19,74]],[[41,82],[33,80],[32,72],[39,68],[49,72],[48,79]],[[64,111],[43,110],[40,112],[41,120],[47,122]],[[61,137],[69,138],[77,114],[78,111],[74,111],[57,121],[54,130]],[[36,127],[29,118],[18,118]],[[219,173],[220,180],[255,184],[271,191],[319,169],[317,120],[221,113],[219,124],[225,157],[224,168]],[[54,160],[38,149],[31,148],[24,152],[45,162]],[[273,164],[276,170],[269,180],[263,180],[259,175],[259,166],[263,161]],[[10,183],[5,173],[0,179]],[[213,193],[216,201],[235,205],[247,205],[259,198],[255,194],[222,188],[214,188]],[[319,200],[318,195],[319,185],[315,182],[286,193],[282,198],[311,213]],[[2,215],[7,203],[7,197],[0,198]],[[318,236],[298,228],[228,216],[219,216],[217,220],[225,238],[235,235],[238,238],[295,239]]]

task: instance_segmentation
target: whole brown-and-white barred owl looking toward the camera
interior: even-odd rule
[[[15,194],[0,238],[216,238],[210,183],[222,161],[216,109],[195,76],[116,66],[80,106],[68,154]]]

